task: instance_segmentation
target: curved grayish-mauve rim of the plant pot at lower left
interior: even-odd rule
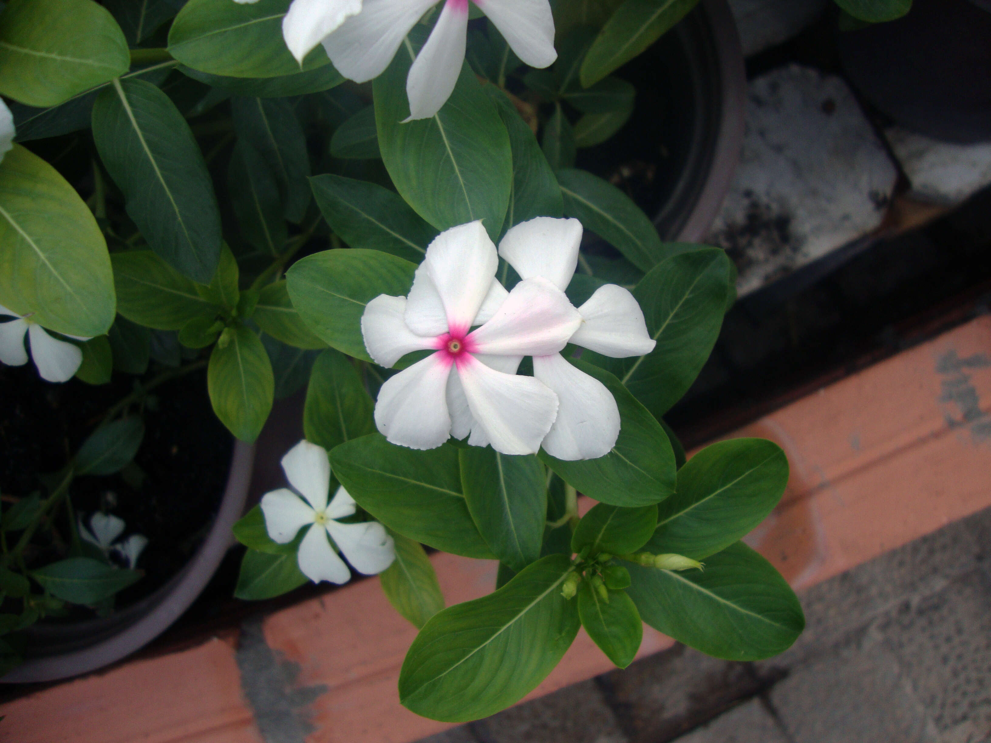
[[[206,587],[233,544],[231,529],[244,511],[254,460],[255,445],[235,440],[224,497],[206,539],[182,571],[135,605],[151,605],[148,613],[92,645],[51,656],[30,658],[0,677],[0,683],[52,682],[96,671],[116,663],[162,634]],[[124,610],[125,613],[127,611],[128,609]]]

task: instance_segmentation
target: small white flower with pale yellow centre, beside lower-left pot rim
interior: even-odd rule
[[[262,498],[265,528],[278,544],[288,544],[312,524],[299,544],[299,570],[313,583],[346,584],[351,571],[337,556],[330,538],[359,573],[382,573],[395,559],[395,545],[378,521],[342,524],[335,519],[355,512],[355,501],[343,487],[330,503],[330,461],[323,447],[300,441],[282,457],[282,471],[295,491],[280,488]],[[298,493],[298,494],[297,494]],[[330,538],[328,538],[328,535]]]

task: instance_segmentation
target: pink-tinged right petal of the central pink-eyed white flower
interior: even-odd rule
[[[547,356],[565,347],[582,324],[568,297],[546,278],[524,278],[492,320],[469,336],[473,353]]]

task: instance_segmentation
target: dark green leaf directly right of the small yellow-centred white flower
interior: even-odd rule
[[[456,448],[417,452],[372,434],[335,448],[330,464],[358,504],[389,529],[444,552],[493,558],[465,503]]]

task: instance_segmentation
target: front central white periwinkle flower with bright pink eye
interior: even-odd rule
[[[383,384],[375,420],[391,443],[434,449],[450,435],[471,433],[469,444],[491,443],[502,454],[540,448],[557,416],[558,396],[516,369],[524,356],[561,351],[582,316],[539,276],[507,292],[495,278],[497,266],[481,222],[452,227],[427,248],[408,296],[380,294],[366,306],[362,335],[377,364],[391,367],[413,351],[437,352]]]

